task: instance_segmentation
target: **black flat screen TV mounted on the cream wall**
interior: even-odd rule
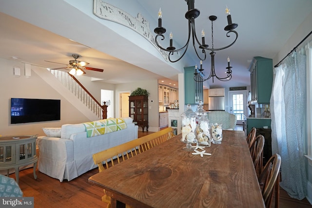
[[[60,120],[60,100],[11,98],[11,124]]]

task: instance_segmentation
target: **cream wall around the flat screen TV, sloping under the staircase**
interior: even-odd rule
[[[13,67],[20,68],[20,76],[13,75]],[[44,69],[43,69],[44,70]],[[42,127],[60,127],[66,123],[86,122],[88,119],[79,113],[75,106],[66,101],[64,97],[46,84],[36,73],[24,76],[24,64],[20,62],[0,59],[0,134],[20,135],[39,134],[44,135]],[[34,122],[25,124],[11,124],[11,98],[42,98],[61,100],[61,120]]]

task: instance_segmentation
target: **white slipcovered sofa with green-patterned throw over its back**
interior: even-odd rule
[[[133,119],[123,119],[127,124],[126,129],[94,137],[87,137],[82,123],[62,125],[60,138],[39,136],[39,171],[62,182],[97,168],[92,158],[94,153],[137,138],[138,126],[133,123]]]

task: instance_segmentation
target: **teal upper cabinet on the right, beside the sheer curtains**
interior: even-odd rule
[[[273,84],[273,60],[254,57],[249,67],[252,103],[270,103]]]

